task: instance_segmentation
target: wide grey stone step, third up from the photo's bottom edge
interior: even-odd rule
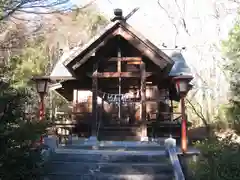
[[[56,150],[52,161],[65,162],[129,162],[129,163],[166,163],[165,151],[97,151],[97,150]]]

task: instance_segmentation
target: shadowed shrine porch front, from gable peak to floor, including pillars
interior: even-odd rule
[[[102,99],[102,104],[96,109],[93,106],[92,110],[96,111],[98,135],[109,137],[111,130],[111,136],[119,136],[121,131],[121,137],[137,133],[140,133],[138,137],[147,137],[146,124],[143,124],[146,121],[146,83],[147,80],[152,83],[152,78],[160,74],[154,74],[151,61],[120,35],[110,39],[101,52],[95,55],[98,60],[89,72],[93,100]]]

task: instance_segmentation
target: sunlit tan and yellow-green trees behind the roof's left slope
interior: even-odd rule
[[[2,74],[14,87],[26,87],[33,75],[48,74],[59,58],[59,49],[86,43],[107,22],[94,8],[49,14],[43,18],[41,29],[35,33],[29,32],[24,22],[19,22],[2,40],[1,48],[9,50]]]

